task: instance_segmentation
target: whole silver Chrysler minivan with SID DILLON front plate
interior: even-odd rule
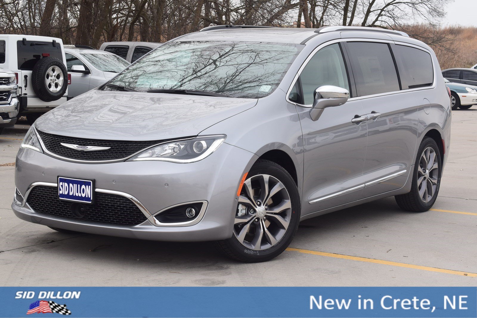
[[[450,124],[436,55],[402,32],[210,27],[42,116],[12,208],[265,261],[313,216],[393,195],[430,209]]]

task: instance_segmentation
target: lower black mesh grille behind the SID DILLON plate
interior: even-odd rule
[[[84,216],[73,214],[73,207],[78,203],[60,200],[58,189],[52,186],[38,185],[31,189],[27,203],[38,213],[65,217],[81,221],[133,226],[143,223],[145,215],[131,200],[121,195],[94,193],[93,204],[82,204]]]

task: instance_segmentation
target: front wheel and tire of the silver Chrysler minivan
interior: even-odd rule
[[[217,246],[239,261],[267,261],[290,245],[299,221],[298,189],[290,174],[278,164],[260,160],[243,184],[233,236]]]

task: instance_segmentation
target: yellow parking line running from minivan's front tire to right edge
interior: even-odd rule
[[[374,259],[374,258],[358,257],[358,256],[350,256],[350,255],[342,255],[342,254],[326,253],[326,252],[317,252],[317,251],[310,251],[308,249],[293,248],[293,247],[288,247],[287,251],[300,252],[300,253],[312,254],[312,255],[318,255],[318,256],[328,256],[328,257],[334,257],[334,258],[349,259],[353,261],[360,261],[360,262],[367,262],[367,263],[374,263],[374,264],[421,269],[421,270],[427,270],[429,272],[454,274],[454,275],[461,275],[461,276],[468,276],[468,277],[477,277],[477,273],[467,273],[467,272],[460,272],[458,270],[413,265],[413,264],[406,264],[406,263],[399,263],[399,262],[391,262],[391,261],[385,261],[382,259]]]

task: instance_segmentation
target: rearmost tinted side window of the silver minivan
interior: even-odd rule
[[[396,45],[393,51],[403,90],[432,86],[434,68],[429,53],[405,45]]]

